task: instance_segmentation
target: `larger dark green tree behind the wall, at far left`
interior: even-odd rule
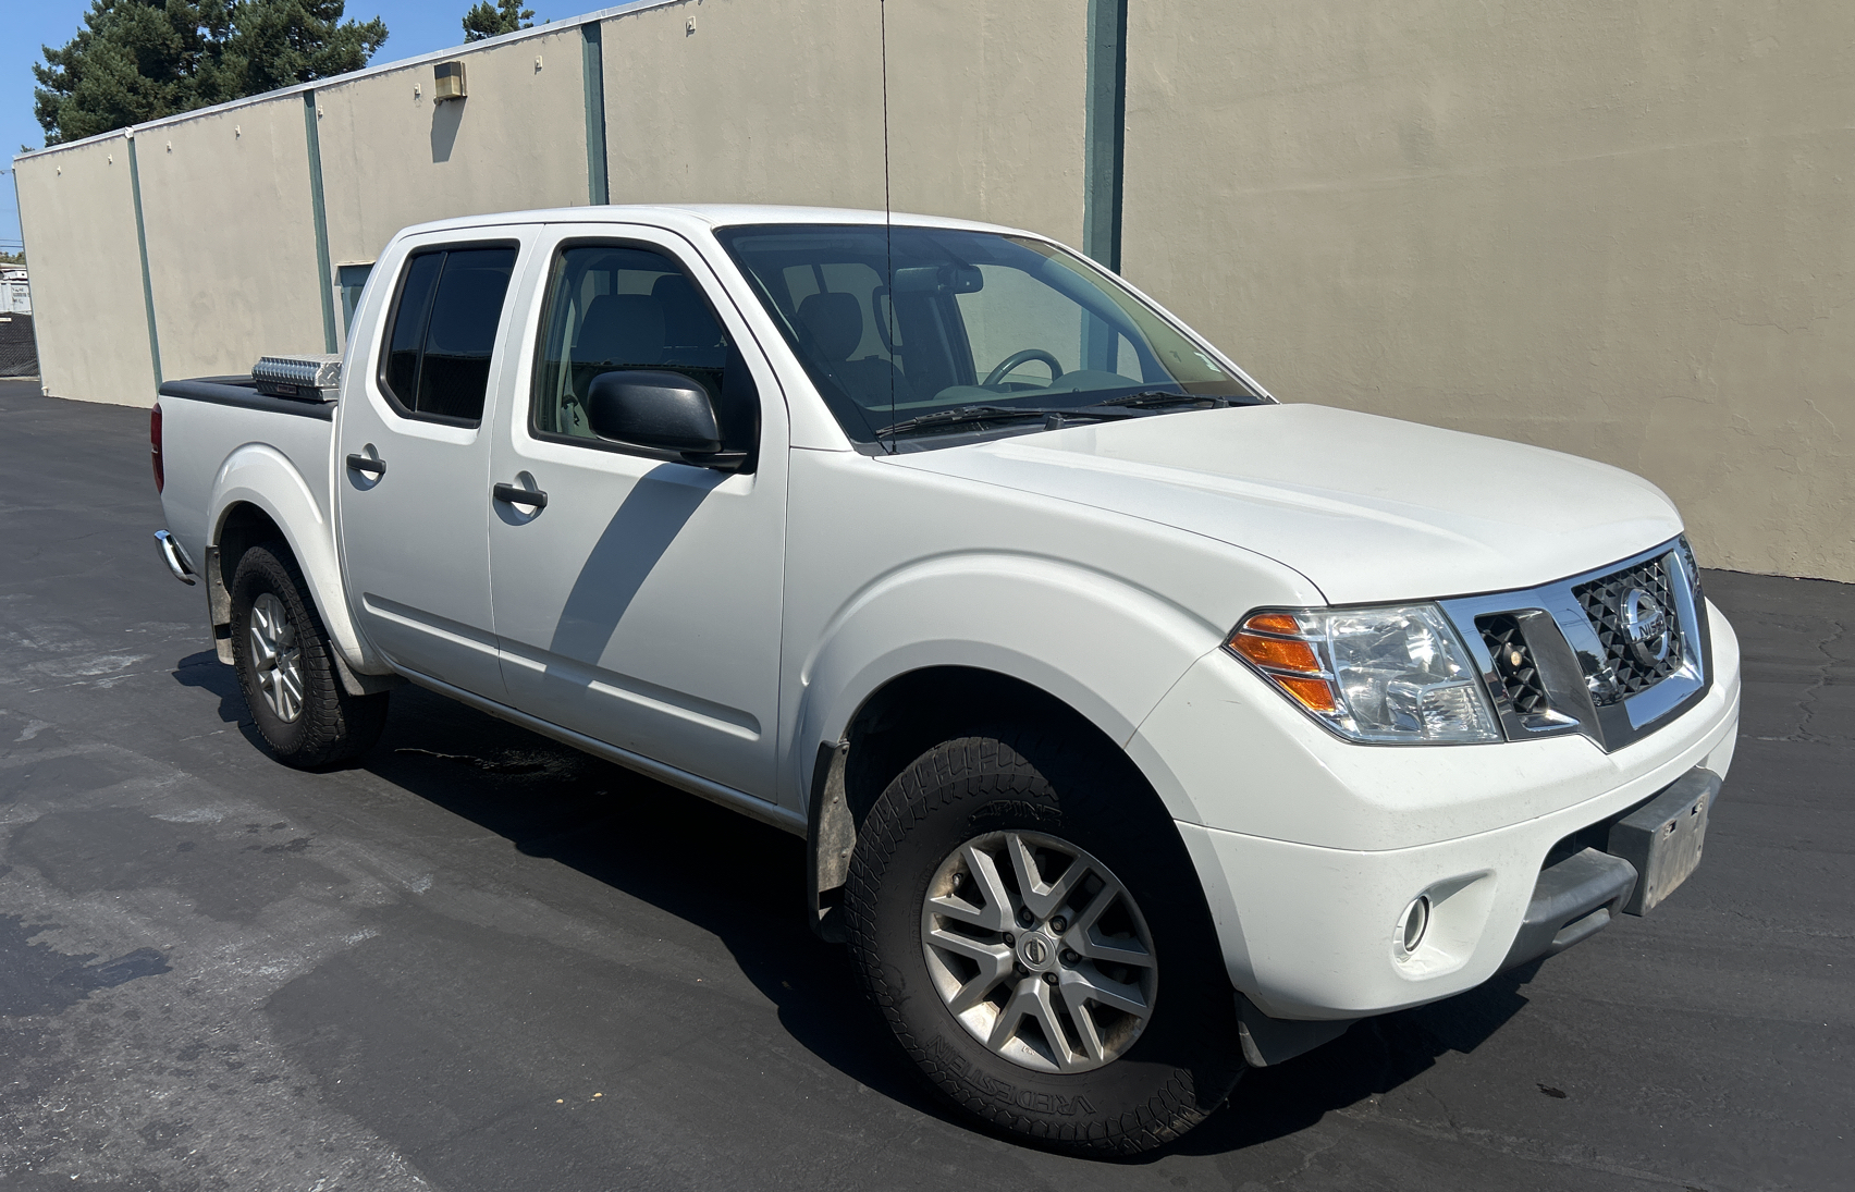
[[[341,13],[343,0],[93,0],[32,69],[45,143],[358,70],[386,24]]]

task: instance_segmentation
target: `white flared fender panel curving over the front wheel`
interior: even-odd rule
[[[1146,588],[1063,560],[961,552],[900,567],[846,601],[805,658],[798,790],[811,790],[812,745],[842,740],[870,695],[909,671],[1009,675],[1124,745],[1222,634]]]

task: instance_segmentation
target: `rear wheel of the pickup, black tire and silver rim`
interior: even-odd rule
[[[349,695],[289,549],[245,551],[232,577],[232,664],[258,734],[286,766],[328,766],[380,740],[386,693]]]

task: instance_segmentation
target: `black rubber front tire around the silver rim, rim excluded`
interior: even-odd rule
[[[1145,916],[1159,970],[1152,1016],[1106,1066],[1037,1072],[1005,1059],[933,986],[922,955],[928,882],[965,842],[1002,831],[1091,853]],[[864,990],[940,1094],[1059,1149],[1133,1155],[1202,1122],[1245,1068],[1230,977],[1191,875],[1178,829],[1124,755],[1074,729],[994,729],[929,749],[870,808],[846,929]]]

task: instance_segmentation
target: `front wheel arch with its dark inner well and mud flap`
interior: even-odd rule
[[[948,708],[1068,717],[1128,758],[1145,788],[1163,790],[1126,743],[1222,634],[1224,627],[1152,588],[1039,554],[944,554],[863,586],[800,664],[800,699],[785,736],[792,742],[788,790],[807,808],[822,918],[831,918],[829,892],[842,884],[861,810],[937,743],[916,738],[944,730],[946,717],[926,716],[928,727],[883,747],[872,745],[872,725],[918,714],[929,697]]]

